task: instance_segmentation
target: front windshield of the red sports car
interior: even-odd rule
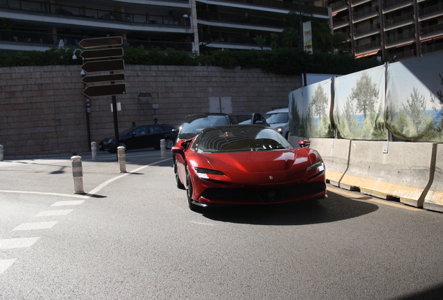
[[[293,149],[293,146],[272,128],[247,126],[219,128],[203,133],[197,152],[223,153]]]

